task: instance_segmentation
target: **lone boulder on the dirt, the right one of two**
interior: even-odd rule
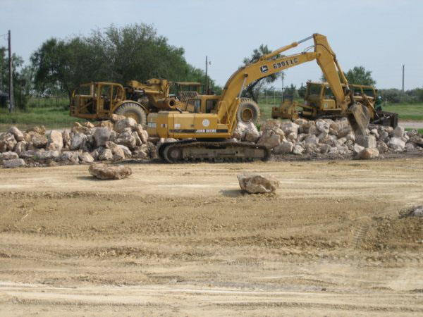
[[[250,194],[271,193],[279,187],[279,181],[276,178],[262,174],[239,174],[238,182],[241,189]]]

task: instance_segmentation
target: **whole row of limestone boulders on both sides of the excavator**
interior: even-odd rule
[[[233,140],[263,144],[276,156],[305,158],[373,159],[388,152],[423,150],[422,135],[416,130],[405,132],[401,127],[370,125],[367,135],[356,139],[346,119],[266,120],[260,131],[252,123],[238,123]],[[175,139],[149,137],[135,120],[118,115],[97,125],[75,123],[71,130],[51,130],[48,133],[44,127],[30,128],[25,132],[12,127],[0,135],[0,164],[13,168],[123,159],[151,160],[157,157],[158,142],[164,141]]]

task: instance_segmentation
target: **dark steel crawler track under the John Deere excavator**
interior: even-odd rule
[[[263,145],[241,142],[178,141],[161,144],[161,159],[167,163],[267,161],[270,150]]]

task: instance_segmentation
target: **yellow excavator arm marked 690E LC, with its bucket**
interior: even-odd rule
[[[308,39],[314,39],[314,51],[304,51],[290,56],[279,56],[284,51],[288,51]],[[324,77],[326,77],[338,105],[341,106],[342,114],[348,117],[357,134],[364,134],[365,128],[369,123],[369,112],[367,108],[355,104],[353,94],[345,94],[341,84],[345,84],[347,87],[346,92],[349,92],[348,80],[343,75],[343,71],[336,60],[336,54],[332,51],[326,37],[317,33],[266,54],[259,58],[258,61],[250,63],[233,73],[223,88],[219,102],[217,114],[221,118],[220,122],[229,125],[230,130],[235,128],[234,116],[238,109],[241,93],[251,82],[314,59],[317,60],[321,71],[324,73]]]

